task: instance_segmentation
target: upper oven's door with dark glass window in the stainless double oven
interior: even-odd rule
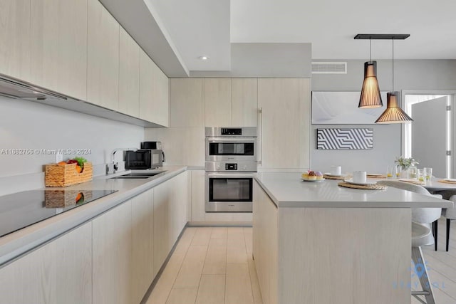
[[[206,143],[207,161],[256,161],[255,138],[208,138]]]

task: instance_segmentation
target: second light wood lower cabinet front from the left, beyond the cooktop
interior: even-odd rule
[[[92,221],[93,303],[132,303],[131,214],[127,201]]]

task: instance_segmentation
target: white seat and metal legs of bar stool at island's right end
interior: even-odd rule
[[[427,244],[427,237],[430,235],[430,229],[422,224],[412,222],[412,260],[420,278],[421,288],[423,291],[412,291],[412,295],[424,295],[427,304],[435,304],[434,293],[432,292],[432,284],[430,283],[423,251],[421,247]]]

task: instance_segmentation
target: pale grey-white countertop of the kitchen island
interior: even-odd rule
[[[278,207],[410,208],[452,207],[451,201],[388,187],[349,189],[338,180],[304,182],[301,172],[259,172],[257,181]]]

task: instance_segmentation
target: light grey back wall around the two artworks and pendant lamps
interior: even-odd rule
[[[373,58],[375,60],[375,58]],[[318,60],[325,61],[325,60]],[[345,60],[336,60],[345,61]],[[313,74],[313,91],[361,91],[365,61],[347,61],[347,74]],[[394,61],[394,90],[455,90],[455,60]],[[392,90],[391,61],[377,62],[380,90]],[[384,100],[383,102],[386,102]],[[353,106],[358,106],[354,100]],[[373,150],[316,150],[316,128],[373,127]],[[331,164],[340,164],[343,171],[366,169],[385,173],[401,153],[400,125],[312,125],[311,167],[326,171]]]

